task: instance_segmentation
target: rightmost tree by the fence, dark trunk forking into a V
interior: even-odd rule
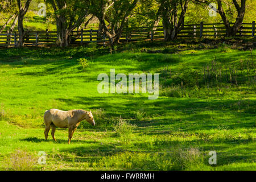
[[[199,2],[199,3],[204,3],[209,5],[211,2],[205,1],[205,0],[195,0],[195,2]],[[233,26],[231,26],[226,13],[224,11],[224,8],[222,6],[222,2],[228,3],[226,1],[223,0],[215,0],[215,2],[218,5],[218,8],[216,10],[216,12],[218,14],[220,14],[222,22],[225,25],[226,28],[226,35],[227,36],[235,36],[237,34],[237,31],[239,30],[239,28],[242,26],[243,23],[243,18],[245,16],[245,9],[246,9],[246,0],[240,0],[240,4],[238,4],[237,0],[232,0],[234,7],[237,11],[237,17],[236,17],[236,21],[234,22]]]

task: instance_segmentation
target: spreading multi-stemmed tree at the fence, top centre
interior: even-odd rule
[[[108,36],[111,45],[119,43],[123,28],[137,2],[138,0],[90,1],[90,11],[97,16],[100,21],[100,31]],[[107,25],[106,22],[109,24]]]

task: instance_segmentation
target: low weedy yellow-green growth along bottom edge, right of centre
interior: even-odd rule
[[[203,155],[197,148],[182,150],[175,147],[170,152],[121,152],[112,156],[103,157],[94,167],[117,168],[132,170],[180,170],[197,169],[204,164]],[[195,168],[194,168],[195,166]]]

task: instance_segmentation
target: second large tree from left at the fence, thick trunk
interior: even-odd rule
[[[67,47],[71,42],[71,33],[79,27],[89,15],[88,3],[79,0],[48,0],[55,13],[57,26],[57,44]]]

